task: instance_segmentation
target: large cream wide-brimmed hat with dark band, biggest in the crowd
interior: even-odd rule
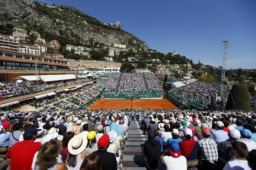
[[[78,155],[82,153],[87,146],[87,137],[84,135],[76,135],[70,139],[68,142],[68,152],[73,155]]]

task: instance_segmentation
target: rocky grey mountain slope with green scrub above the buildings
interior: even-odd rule
[[[48,32],[82,43],[98,41],[105,45],[115,43],[132,48],[147,47],[146,42],[136,36],[116,27],[103,25],[96,18],[73,7],[48,7],[33,0],[0,0],[0,11],[3,24],[11,23],[16,27],[39,31],[46,40],[44,35],[48,35]]]

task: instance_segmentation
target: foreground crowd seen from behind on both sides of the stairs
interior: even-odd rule
[[[116,169],[131,118],[148,131],[142,156],[151,169],[256,168],[255,113],[44,110],[0,117],[0,169],[86,169],[91,159],[99,169]]]

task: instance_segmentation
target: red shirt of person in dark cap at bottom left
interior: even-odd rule
[[[31,170],[34,155],[40,148],[40,142],[23,140],[12,145],[5,158],[11,159],[11,170]]]

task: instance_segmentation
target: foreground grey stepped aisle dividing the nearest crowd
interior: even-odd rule
[[[141,155],[141,147],[148,140],[148,135],[137,120],[131,120],[128,133],[129,139],[124,146],[124,151],[122,151],[122,170],[146,169]]]

